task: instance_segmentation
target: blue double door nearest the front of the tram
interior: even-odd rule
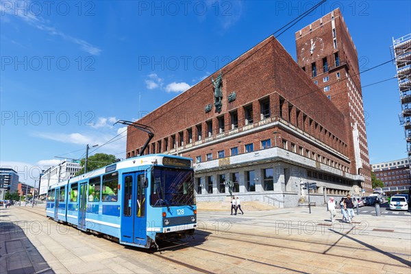
[[[146,190],[143,172],[123,174],[121,240],[145,245],[147,242]]]

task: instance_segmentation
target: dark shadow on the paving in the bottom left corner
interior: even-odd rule
[[[54,271],[21,227],[14,223],[0,222],[0,273],[54,273]]]

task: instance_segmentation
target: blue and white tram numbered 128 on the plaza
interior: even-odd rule
[[[191,235],[197,227],[192,160],[143,155],[73,177],[49,188],[46,214],[136,247]]]

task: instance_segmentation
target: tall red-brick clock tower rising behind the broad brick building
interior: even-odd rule
[[[339,9],[296,32],[297,62],[312,82],[347,118],[350,168],[372,192],[364,108],[356,46]]]

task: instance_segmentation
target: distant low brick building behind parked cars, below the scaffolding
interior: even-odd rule
[[[386,187],[411,186],[410,161],[408,158],[372,164],[373,173]]]

